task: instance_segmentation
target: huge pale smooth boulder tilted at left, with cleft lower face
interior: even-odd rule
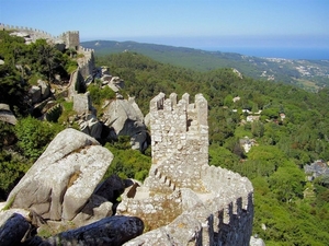
[[[44,219],[72,220],[86,206],[113,160],[113,154],[75,129],[58,133],[10,192],[12,208]]]

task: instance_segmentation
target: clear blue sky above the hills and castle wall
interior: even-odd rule
[[[328,0],[0,0],[0,23],[81,40],[329,47]]]

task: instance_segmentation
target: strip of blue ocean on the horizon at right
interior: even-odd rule
[[[257,48],[257,47],[216,47],[204,50],[237,52],[246,56],[284,59],[329,60],[328,48]]]

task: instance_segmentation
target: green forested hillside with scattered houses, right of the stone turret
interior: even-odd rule
[[[266,245],[327,245],[328,177],[306,181],[303,166],[329,161],[329,90],[314,94],[241,79],[231,69],[194,72],[134,52],[100,57],[98,62],[124,78],[126,93],[136,96],[145,114],[149,99],[160,91],[203,93],[209,105],[209,163],[252,180],[253,232]],[[240,101],[234,103],[237,96]],[[248,114],[242,109],[256,116],[262,110],[260,120],[243,121]],[[239,143],[246,136],[257,142],[248,153]]]

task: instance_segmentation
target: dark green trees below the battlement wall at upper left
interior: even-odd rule
[[[25,45],[24,38],[11,36],[9,32],[0,31],[0,103],[11,106],[16,115],[27,115],[30,102],[26,98],[31,85],[38,79],[52,83],[61,83],[77,69],[76,60],[63,54],[45,39],[37,39]]]

